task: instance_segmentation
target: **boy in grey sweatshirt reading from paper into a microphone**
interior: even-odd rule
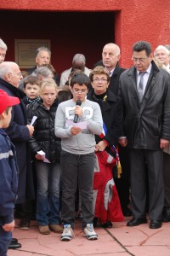
[[[73,98],[59,104],[55,116],[55,135],[61,137],[61,182],[64,222],[62,241],[70,241],[74,229],[77,180],[82,198],[82,230],[88,240],[98,239],[94,231],[95,137],[101,134],[103,121],[98,103],[86,96],[90,80],[84,73],[71,79]]]

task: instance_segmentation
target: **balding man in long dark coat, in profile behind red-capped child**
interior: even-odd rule
[[[19,166],[19,183],[17,191],[17,204],[25,202],[26,197],[34,199],[34,187],[31,172],[31,158],[29,158],[28,142],[33,134],[34,127],[27,125],[26,107],[21,102],[21,91],[18,89],[22,75],[20,67],[10,61],[0,64],[0,89],[6,91],[9,96],[20,99],[20,104],[12,109],[10,124],[5,129],[8,137],[14,143],[16,149],[16,159]],[[27,185],[26,185],[27,184]],[[19,248],[20,243],[16,239],[12,241],[9,248]]]

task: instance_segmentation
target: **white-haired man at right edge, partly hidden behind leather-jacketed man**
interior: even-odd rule
[[[164,68],[170,73],[170,52],[166,46],[159,45],[156,47],[154,52],[154,57],[161,61],[161,64],[164,65]]]

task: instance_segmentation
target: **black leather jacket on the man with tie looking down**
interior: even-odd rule
[[[170,75],[166,70],[152,68],[142,102],[139,102],[136,68],[120,77],[120,96],[125,115],[124,135],[128,148],[160,149],[160,139],[170,140]]]

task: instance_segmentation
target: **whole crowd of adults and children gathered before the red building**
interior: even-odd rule
[[[169,47],[152,54],[136,42],[125,69],[119,46],[105,44],[94,69],[77,54],[59,79],[48,48],[20,71],[0,39],[0,256],[21,247],[14,218],[21,230],[36,219],[61,241],[73,238],[77,214],[88,240],[124,216],[129,227],[170,222]]]

